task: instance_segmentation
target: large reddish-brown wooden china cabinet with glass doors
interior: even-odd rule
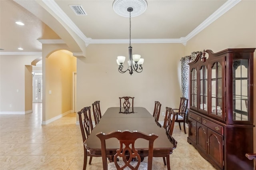
[[[188,142],[217,169],[253,169],[245,154],[253,153],[254,50],[206,50],[189,63]]]

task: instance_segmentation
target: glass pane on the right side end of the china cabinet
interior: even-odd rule
[[[233,120],[249,121],[248,90],[249,90],[248,59],[233,61]]]

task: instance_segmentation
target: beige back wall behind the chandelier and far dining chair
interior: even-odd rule
[[[133,54],[144,58],[142,73],[119,73],[116,58],[126,56],[128,44],[90,44],[86,58],[77,59],[78,110],[100,100],[102,113],[108,107],[119,107],[118,97],[132,96],[134,106],[145,107],[150,113],[154,101],[165,107],[178,107],[181,97],[180,59],[184,57],[182,44],[132,44]],[[125,67],[126,67],[125,66]],[[159,121],[164,117],[160,116]]]

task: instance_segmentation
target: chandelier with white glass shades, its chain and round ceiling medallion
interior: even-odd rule
[[[126,71],[129,71],[130,75],[134,71],[137,73],[142,72],[142,64],[144,63],[144,59],[140,58],[141,56],[138,54],[132,55],[132,45],[131,45],[131,12],[132,16],[138,16],[142,14],[147,7],[147,2],[146,0],[114,0],[113,2],[113,8],[114,11],[124,17],[129,17],[130,18],[130,43],[128,47],[129,51],[129,58],[128,58],[128,67],[124,69],[124,61],[125,57],[124,56],[118,56],[116,59],[117,64],[119,65],[118,71],[120,73],[125,73]]]

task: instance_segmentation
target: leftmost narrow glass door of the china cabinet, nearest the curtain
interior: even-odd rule
[[[190,89],[190,106],[197,107],[197,71],[195,68],[191,71],[191,89]]]

